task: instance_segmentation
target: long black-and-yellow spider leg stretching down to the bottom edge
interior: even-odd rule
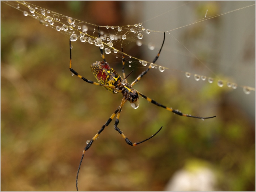
[[[85,152],[91,147],[93,141],[98,138],[98,136],[101,134],[101,132],[105,129],[105,127],[107,127],[109,125],[109,123],[113,120],[113,118],[116,116],[117,112],[119,112],[119,111],[120,111],[120,106],[116,109],[116,111],[110,116],[110,118],[106,121],[106,123],[98,131],[98,133],[90,140],[90,142],[84,148],[84,151],[82,153],[82,157],[81,157],[81,160],[80,160],[80,163],[79,163],[79,166],[78,166],[77,174],[76,174],[76,190],[77,191],[78,191],[78,187],[77,187],[78,173],[79,173],[79,170],[80,170],[81,163],[83,161]]]

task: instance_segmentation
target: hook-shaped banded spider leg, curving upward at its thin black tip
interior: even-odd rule
[[[120,135],[125,139],[125,142],[126,142],[128,145],[136,146],[136,145],[138,145],[138,144],[140,144],[140,143],[143,143],[143,142],[145,142],[145,141],[151,139],[153,136],[155,136],[155,135],[162,129],[162,127],[161,127],[154,135],[150,136],[149,138],[147,138],[147,139],[145,139],[145,140],[143,140],[143,141],[140,141],[140,142],[137,142],[137,143],[136,143],[136,142],[135,142],[135,143],[131,142],[131,140],[129,140],[129,139],[122,133],[122,131],[117,127],[117,125],[118,125],[118,123],[119,123],[120,112],[121,112],[121,109],[122,109],[123,104],[124,104],[125,102],[126,102],[125,97],[123,97],[123,99],[122,99],[122,101],[121,101],[121,104],[120,104],[120,106],[119,106],[119,109],[118,109],[118,113],[117,113],[117,115],[116,115],[116,121],[115,121],[114,127],[115,127],[115,130],[118,131],[118,133],[120,133]]]

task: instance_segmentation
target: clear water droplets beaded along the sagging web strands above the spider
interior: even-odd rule
[[[80,20],[76,20],[71,17],[64,16],[62,14],[58,14],[56,12],[46,10],[44,8],[32,5],[30,3],[24,1],[3,1],[7,5],[10,5],[18,10],[23,11],[24,16],[31,16],[37,20],[39,20],[40,24],[45,26],[49,26],[57,31],[63,33],[64,35],[68,35],[71,38],[71,41],[76,41],[78,38],[81,42],[88,42],[89,44],[94,44],[95,46],[99,46],[101,49],[104,49],[106,54],[110,53],[122,53],[120,50],[114,48],[114,44],[116,41],[124,41],[127,39],[134,40],[137,38],[136,44],[138,46],[142,45],[141,39],[143,38],[143,34],[150,34],[149,29],[145,29],[141,23],[134,25],[126,25],[126,26],[100,26],[101,28],[106,28],[109,31],[109,35],[106,35],[103,31],[100,31],[100,37],[98,37],[97,26],[93,24],[89,24],[87,22],[83,22]],[[100,28],[100,29],[101,29]],[[112,31],[111,31],[112,30]],[[96,31],[96,32],[95,32]],[[89,34],[92,33],[92,34]],[[154,46],[149,45],[148,48],[150,50],[154,49]],[[112,50],[112,52],[111,52]],[[123,53],[126,56],[129,56]],[[154,63],[149,63],[147,61],[142,61],[135,57],[129,56],[129,58],[133,58],[143,66],[150,65],[151,68],[159,69],[159,71],[165,71],[165,67],[156,65]],[[131,63],[132,61],[129,61]],[[130,67],[131,65],[129,65]],[[189,72],[185,72],[186,77],[190,77],[191,74]],[[209,83],[213,83],[216,79],[206,76],[200,76],[194,74],[194,78],[196,81],[200,79],[205,81],[208,79]],[[235,83],[226,82],[223,80],[217,80],[217,85],[219,87],[223,87],[224,82],[227,84],[227,87],[236,89],[238,87]],[[248,86],[240,86],[243,88],[244,93],[249,94],[251,91],[255,91],[255,88],[251,88]]]

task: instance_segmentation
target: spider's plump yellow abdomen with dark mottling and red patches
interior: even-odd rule
[[[93,72],[97,81],[102,85],[116,86],[122,81],[121,76],[104,61],[96,61],[91,64],[91,72]],[[114,88],[104,88],[115,93]]]

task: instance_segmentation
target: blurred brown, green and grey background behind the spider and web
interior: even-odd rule
[[[151,69],[134,88],[184,113],[217,115],[205,121],[181,117],[142,98],[136,110],[125,104],[118,127],[132,142],[163,129],[131,147],[110,123],[85,154],[80,191],[255,191],[255,91],[246,95],[241,87],[220,88],[184,73],[255,88],[255,6],[193,24],[207,9],[207,16],[215,15],[252,1],[29,3],[92,24],[143,22],[155,31],[175,29],[166,34],[156,62],[169,69]],[[162,39],[163,33],[154,33],[145,36],[154,50],[134,42],[124,51],[152,61]],[[74,69],[94,81],[89,67],[101,60],[99,49],[72,45]],[[106,60],[121,74],[121,60],[111,55]],[[132,67],[130,83],[145,70]],[[86,141],[121,98],[71,76],[69,37],[1,2],[1,191],[76,190]]]

